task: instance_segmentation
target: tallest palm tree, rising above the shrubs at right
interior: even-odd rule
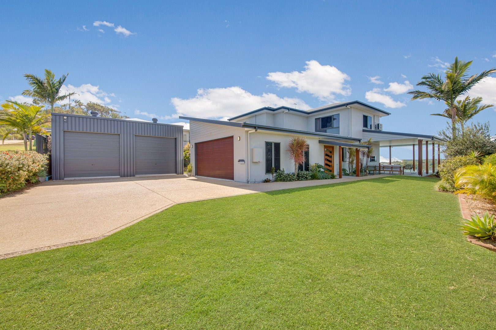
[[[444,79],[439,74],[430,73],[422,77],[417,86],[425,86],[428,92],[416,90],[408,92],[413,95],[412,100],[423,98],[434,98],[442,100],[448,105],[446,114],[451,118],[451,131],[456,135],[456,99],[468,92],[482,79],[496,72],[496,68],[486,70],[480,74],[468,76],[472,61],[461,61],[455,57],[455,61],[444,72]]]

